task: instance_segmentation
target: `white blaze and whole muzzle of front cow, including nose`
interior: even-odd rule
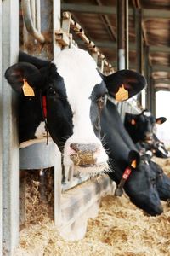
[[[92,92],[102,79],[97,72],[93,58],[82,49],[65,49],[55,61],[57,71],[65,82],[66,95],[73,114],[73,134],[65,142],[64,165],[72,166],[73,159],[87,152],[91,158],[86,162],[85,154],[82,160],[75,160],[75,167],[83,172],[101,172],[107,168],[108,156],[102,143],[94,133],[90,115]],[[104,85],[103,85],[104,86]],[[106,92],[106,88],[105,88]],[[78,154],[71,158],[72,154]],[[92,155],[93,158],[92,159]]]

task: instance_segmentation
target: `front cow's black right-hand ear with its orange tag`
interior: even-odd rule
[[[111,96],[118,101],[124,101],[135,96],[147,84],[141,74],[126,69],[117,71],[109,76],[103,75],[102,78]]]

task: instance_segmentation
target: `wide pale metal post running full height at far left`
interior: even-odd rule
[[[19,149],[16,97],[4,79],[19,52],[19,1],[2,2],[3,31],[3,256],[12,255],[19,236]]]

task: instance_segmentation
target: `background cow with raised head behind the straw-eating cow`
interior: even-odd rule
[[[125,128],[133,139],[133,143],[138,143],[141,150],[151,150],[152,154],[160,158],[169,157],[169,152],[154,133],[155,125],[163,124],[165,117],[155,118],[150,111],[144,110],[142,113],[126,113]]]

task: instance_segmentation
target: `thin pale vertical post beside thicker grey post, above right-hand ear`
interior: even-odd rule
[[[128,0],[125,0],[125,68],[129,67]]]

